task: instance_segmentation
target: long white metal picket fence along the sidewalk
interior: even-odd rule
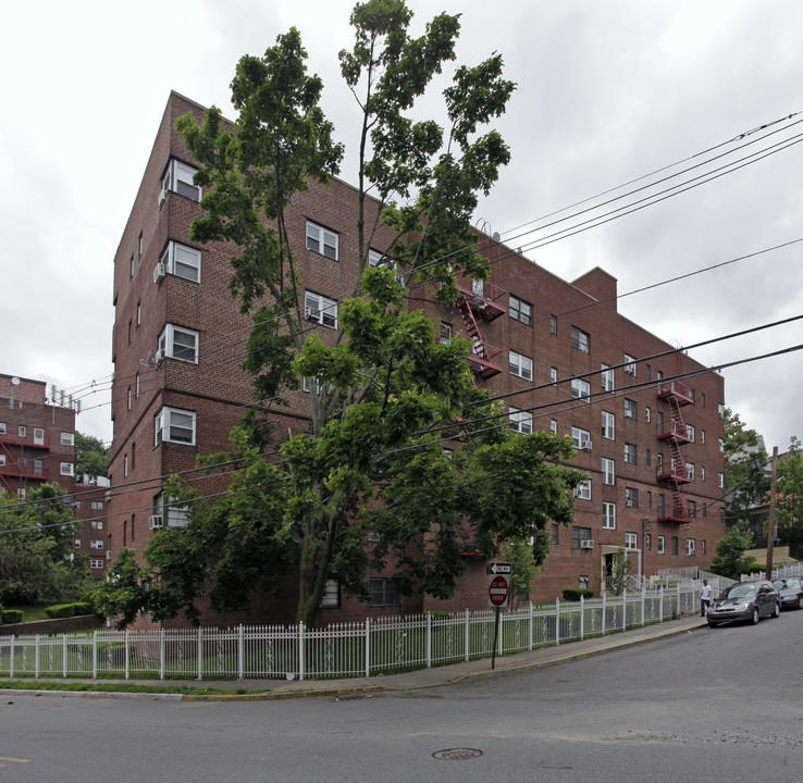
[[[697,611],[677,585],[621,596],[529,606],[501,614],[499,656],[659,623]],[[244,626],[0,636],[0,678],[370,678],[487,658],[493,610],[430,613],[324,629]]]

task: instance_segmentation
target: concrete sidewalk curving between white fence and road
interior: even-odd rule
[[[540,669],[547,666],[557,666],[567,661],[589,658],[591,656],[625,649],[635,645],[654,642],[656,639],[691,633],[705,627],[706,622],[701,617],[671,620],[659,625],[646,625],[610,634],[608,636],[583,639],[582,642],[565,643],[556,647],[542,647],[531,652],[497,657],[496,666],[491,669],[491,659],[482,658],[462,663],[419,669],[402,674],[380,674],[371,678],[353,678],[337,680],[126,680],[137,685],[152,685],[155,687],[196,687],[219,688],[230,691],[230,694],[220,695],[182,695],[182,694],[127,694],[127,693],[97,693],[69,691],[13,691],[2,688],[0,694],[42,694],[54,696],[82,697],[120,697],[120,698],[151,698],[185,701],[220,701],[220,700],[257,700],[276,698],[296,698],[299,696],[341,697],[350,695],[381,694],[393,691],[418,691],[450,683],[466,682],[494,676],[503,676],[511,672],[528,669]],[[38,682],[65,682],[64,680],[41,679]],[[70,680],[76,683],[97,683],[97,680]],[[100,681],[110,683],[109,680]]]

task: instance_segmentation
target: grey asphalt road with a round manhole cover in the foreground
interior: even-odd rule
[[[803,612],[374,697],[3,696],[0,781],[791,783]],[[10,704],[13,703],[13,704]],[[472,758],[438,759],[466,748]]]

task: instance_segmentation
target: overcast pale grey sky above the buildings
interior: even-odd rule
[[[539,247],[555,228],[532,231],[556,210],[718,145],[607,198],[715,153],[729,153],[721,165],[794,141],[803,113],[768,128],[780,132],[774,136],[732,140],[803,112],[800,0],[409,4],[415,29],[441,11],[462,13],[458,62],[504,55],[518,84],[498,123],[512,162],[477,219],[560,277],[602,266],[621,295],[803,238],[801,145],[559,241]],[[77,428],[110,438],[112,260],[170,90],[234,117],[228,84],[237,60],[261,54],[295,25],[310,70],[324,78],[324,110],[353,151],[357,115],[337,67],[337,51],[351,45],[351,8],[342,0],[45,0],[4,9],[0,372],[72,390],[83,398]],[[354,157],[342,177],[355,181]],[[794,316],[803,310],[802,253],[803,243],[764,252],[625,297],[619,310],[680,346]],[[721,365],[796,346],[801,336],[793,322],[691,355]],[[802,359],[790,352],[724,371],[727,403],[769,449],[803,437]]]

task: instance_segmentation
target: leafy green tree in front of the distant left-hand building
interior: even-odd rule
[[[55,483],[25,504],[0,496],[0,602],[70,600],[91,587],[85,558],[73,558],[77,523]]]

